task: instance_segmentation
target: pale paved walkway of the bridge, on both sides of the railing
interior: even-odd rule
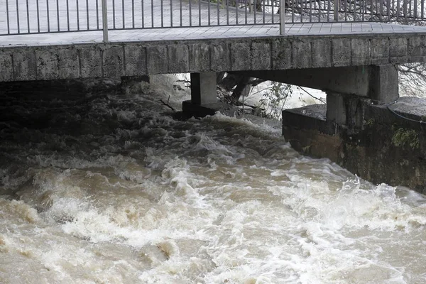
[[[99,1],[99,0],[98,0]],[[146,29],[129,29],[120,31],[109,31],[109,40],[111,42],[130,42],[130,41],[157,41],[157,40],[192,40],[192,39],[208,39],[208,38],[250,38],[263,36],[279,35],[278,24],[259,25],[259,23],[271,23],[279,21],[279,15],[256,13],[247,13],[243,9],[239,9],[238,16],[235,9],[219,9],[217,6],[209,6],[206,3],[192,4],[191,13],[189,2],[172,0],[160,1],[143,0],[144,11],[141,6],[134,6],[131,9],[131,0],[123,0],[124,13],[122,13],[120,1],[116,1],[116,11],[113,17],[111,3],[109,2],[108,20],[109,28],[141,28]],[[11,1],[9,1],[11,3]],[[35,12],[35,7],[29,7],[27,16],[24,7],[25,0],[18,0],[20,3],[20,31],[21,33],[29,31],[63,31],[68,26],[70,30],[96,29],[102,28],[102,13],[96,13],[96,2],[88,1],[86,7],[85,1],[80,1],[79,21],[77,21],[77,8],[72,6],[73,1],[69,2],[68,16],[70,22],[67,21],[67,13],[64,10],[68,1],[58,0],[59,12],[55,5],[49,7],[50,16],[46,13],[47,7],[45,3],[40,2],[39,20]],[[43,3],[42,3],[43,2]],[[183,2],[183,3],[182,3]],[[192,1],[194,2],[194,1]],[[14,3],[14,1],[13,1]],[[151,4],[154,3],[151,7]],[[170,3],[173,5],[170,7]],[[197,1],[195,1],[197,3]],[[201,3],[201,2],[200,2]],[[99,4],[99,3],[98,3]],[[16,9],[9,4],[9,31],[16,33],[18,31]],[[180,6],[182,5],[182,7]],[[173,11],[173,12],[172,12]],[[210,12],[209,12],[210,11]],[[163,18],[162,18],[163,16]],[[274,17],[274,18],[273,18]],[[114,18],[114,21],[113,21]],[[49,19],[49,21],[48,21]],[[309,18],[304,18],[308,20]],[[88,21],[87,21],[88,20]],[[299,19],[288,16],[286,21],[300,21]],[[315,19],[314,19],[315,20]],[[322,20],[324,21],[324,19]],[[244,26],[245,23],[257,23],[256,26]],[[226,23],[239,23],[241,26],[223,26]],[[6,3],[0,1],[0,35],[7,33],[6,28]],[[170,28],[173,26],[190,26],[191,28]],[[198,26],[200,25],[201,26]],[[218,26],[218,24],[220,26]],[[77,26],[78,25],[78,26]],[[209,26],[212,25],[212,26]],[[59,28],[58,28],[59,26]],[[156,28],[163,26],[163,28]],[[169,26],[169,28],[168,28]],[[153,28],[154,27],[154,28]],[[165,27],[165,28],[164,28]],[[357,35],[357,34],[374,34],[383,35],[390,33],[426,33],[426,28],[415,26],[390,25],[386,23],[287,23],[285,26],[286,35]],[[72,33],[57,33],[55,35],[49,33],[29,34],[29,35],[1,35],[0,46],[36,46],[36,45],[66,45],[75,43],[100,43],[102,42],[102,31],[84,31]]]

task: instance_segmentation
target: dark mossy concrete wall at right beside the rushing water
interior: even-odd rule
[[[283,135],[297,151],[329,158],[373,183],[426,193],[426,100],[400,98],[391,106],[414,121],[386,105],[363,104],[359,127],[327,121],[324,105],[283,111]]]

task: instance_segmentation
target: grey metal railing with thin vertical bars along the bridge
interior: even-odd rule
[[[0,0],[0,35],[280,23],[425,21],[426,0]],[[285,13],[280,13],[285,11]]]

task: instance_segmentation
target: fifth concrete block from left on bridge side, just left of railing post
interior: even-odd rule
[[[80,47],[80,77],[102,77],[101,49],[94,45],[89,48]]]

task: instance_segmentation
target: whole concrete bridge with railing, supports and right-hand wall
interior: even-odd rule
[[[408,102],[393,105],[414,121],[396,121],[400,129],[420,139],[398,152],[413,163],[393,170],[371,154],[383,145],[366,142],[366,121],[395,123],[383,119],[383,107],[399,97],[395,66],[426,61],[423,23],[424,0],[0,0],[0,82],[191,73],[183,109],[195,114],[217,109],[217,72],[322,89],[327,106],[285,111],[285,138],[374,182],[397,184],[397,171],[426,171],[424,124],[415,123],[425,114],[398,112]],[[389,174],[375,175],[378,164]],[[425,188],[426,178],[402,183]]]

